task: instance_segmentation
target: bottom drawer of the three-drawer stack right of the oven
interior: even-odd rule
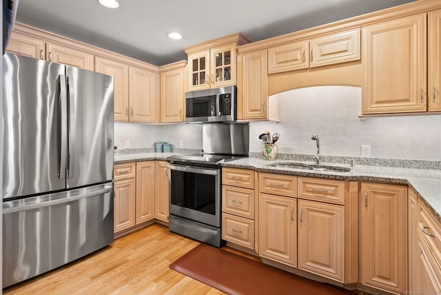
[[[222,238],[225,241],[254,249],[254,221],[223,213]]]

